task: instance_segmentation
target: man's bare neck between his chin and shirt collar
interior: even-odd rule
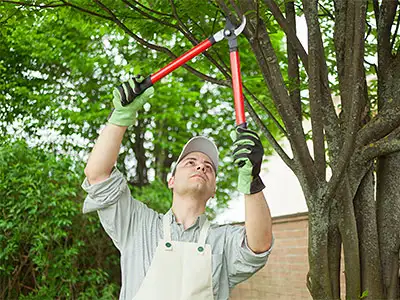
[[[176,222],[182,224],[184,229],[192,226],[204,211],[204,203],[198,202],[198,200],[174,197],[172,212],[175,215]]]

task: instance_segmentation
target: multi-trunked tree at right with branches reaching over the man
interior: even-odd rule
[[[398,1],[2,2],[20,9],[70,8],[105,20],[137,44],[165,55],[157,56],[159,67],[167,60],[159,57],[169,60],[183,52],[176,42],[168,49],[163,32],[174,33],[187,46],[223,26],[219,13],[236,24],[245,15],[242,72],[262,78],[244,82],[246,108],[302,186],[309,209],[311,295],[340,298],[343,246],[347,298],[399,298]],[[307,21],[307,51],[296,36],[296,15]],[[286,49],[273,43],[282,33]],[[202,80],[229,86],[222,53],[226,47],[216,45],[196,61],[202,72],[192,64],[185,68]],[[375,63],[371,56],[377,56]],[[304,132],[304,119],[311,122],[310,132]],[[278,144],[280,136],[289,140],[292,155]]]

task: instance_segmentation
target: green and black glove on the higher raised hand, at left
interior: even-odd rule
[[[111,113],[108,123],[118,126],[131,126],[135,124],[136,112],[153,96],[154,88],[146,89],[142,94],[136,96],[134,90],[144,80],[143,76],[135,76],[121,84],[113,91],[114,110]],[[136,96],[136,98],[135,98]],[[133,99],[133,101],[132,101]],[[126,106],[122,103],[131,102]]]

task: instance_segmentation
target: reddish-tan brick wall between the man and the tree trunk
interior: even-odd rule
[[[267,265],[252,278],[236,286],[232,291],[231,300],[312,299],[306,287],[307,213],[273,218],[272,231],[275,244]],[[341,282],[344,282],[343,274]],[[344,284],[341,290],[344,296]]]

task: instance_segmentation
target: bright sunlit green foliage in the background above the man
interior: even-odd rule
[[[105,15],[89,1],[74,4]],[[104,4],[115,5],[113,9],[128,31],[109,19],[69,6],[41,9],[0,4],[0,66],[4,73],[0,79],[1,134],[18,133],[41,148],[84,159],[110,112],[112,88],[133,73],[151,74],[165,66],[172,59],[168,51],[180,55],[193,46],[176,32],[177,20],[162,1],[151,5],[165,13],[161,18],[171,26],[143,18],[128,5]],[[224,26],[223,16],[212,3],[179,3],[177,9],[186,29],[193,31],[197,39]],[[146,49],[129,33],[140,33],[142,39],[167,50]],[[281,36],[277,33],[277,43]],[[220,58],[221,64],[229,65],[226,43],[217,44],[209,52]],[[241,50],[241,60],[244,83],[253,92],[264,93],[254,54],[247,47]],[[188,65],[216,80],[224,79],[204,56]],[[234,125],[231,90],[207,83],[182,68],[155,88],[150,106],[140,113],[137,126],[130,129],[123,142],[119,168],[133,186],[141,187],[153,180],[166,182],[182,145],[193,135],[207,135],[216,141],[225,158],[218,174],[214,209],[226,207],[236,184],[230,158],[229,132]],[[268,96],[260,99],[268,105]],[[254,127],[251,120],[250,126]],[[270,153],[268,147],[266,153]],[[132,166],[133,161],[143,163]]]

